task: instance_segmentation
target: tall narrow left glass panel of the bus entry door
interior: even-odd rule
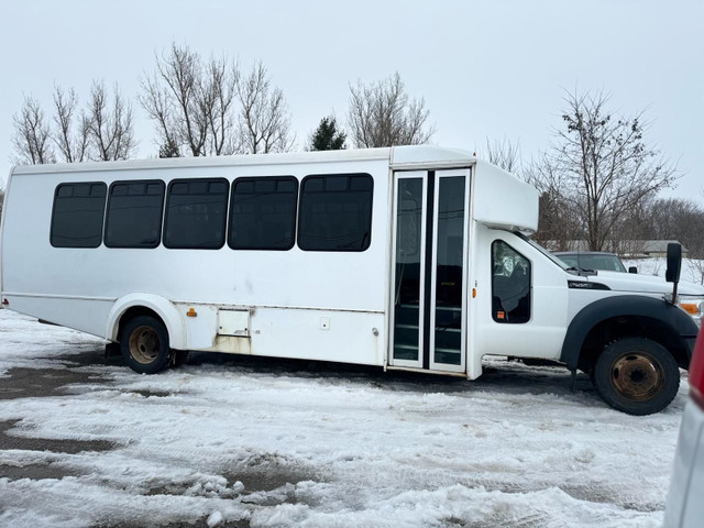
[[[396,197],[396,284],[394,359],[417,361],[420,353],[422,178],[398,180]]]

